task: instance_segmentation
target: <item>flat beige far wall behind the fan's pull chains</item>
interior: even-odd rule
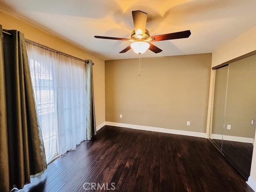
[[[138,59],[106,61],[106,121],[205,133],[211,59],[142,58],[140,76]]]

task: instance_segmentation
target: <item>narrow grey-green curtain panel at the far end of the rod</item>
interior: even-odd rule
[[[92,60],[85,61],[85,78],[86,78],[86,139],[90,140],[96,134]]]

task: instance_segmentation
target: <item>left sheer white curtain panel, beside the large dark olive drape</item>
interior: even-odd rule
[[[46,161],[58,155],[57,54],[26,44]]]

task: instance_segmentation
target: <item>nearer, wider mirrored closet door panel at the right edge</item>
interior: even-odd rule
[[[256,55],[229,64],[222,153],[250,176],[256,120]]]

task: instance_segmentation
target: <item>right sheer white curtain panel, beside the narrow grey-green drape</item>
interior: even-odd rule
[[[60,154],[86,139],[84,64],[58,54]]]

